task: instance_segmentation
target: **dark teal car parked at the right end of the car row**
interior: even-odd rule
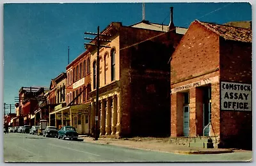
[[[76,128],[72,126],[63,126],[59,131],[58,131],[58,139],[62,138],[64,139],[72,139],[72,140],[77,140],[78,138],[78,133],[76,132]]]

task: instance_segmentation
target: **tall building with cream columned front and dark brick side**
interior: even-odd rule
[[[168,26],[167,26],[168,27]],[[171,31],[169,31],[171,30]],[[132,26],[112,22],[100,34],[111,42],[100,49],[100,135],[169,135],[170,66],[168,60],[182,34],[146,20]],[[95,43],[95,40],[91,42]],[[91,63],[92,112],[95,116],[97,48],[88,46]],[[95,119],[91,118],[93,131]]]

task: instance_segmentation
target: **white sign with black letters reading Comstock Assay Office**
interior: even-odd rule
[[[221,110],[252,110],[252,84],[221,82]]]

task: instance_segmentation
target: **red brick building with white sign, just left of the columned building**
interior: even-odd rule
[[[70,112],[70,125],[79,134],[89,133],[90,119],[90,54],[80,54],[66,67],[67,70],[67,108]]]

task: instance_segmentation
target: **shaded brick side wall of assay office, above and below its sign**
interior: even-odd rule
[[[252,84],[252,43],[221,40],[220,80]],[[252,112],[221,110],[225,146],[252,148]]]

